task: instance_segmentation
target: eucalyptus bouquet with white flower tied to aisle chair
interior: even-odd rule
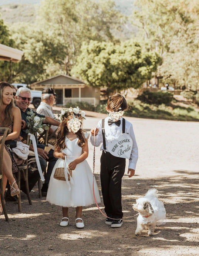
[[[31,134],[35,134],[36,132],[41,133],[44,131],[44,129],[48,129],[48,127],[45,124],[43,124],[43,121],[45,118],[36,116],[31,109],[30,111],[27,112],[27,114],[28,114],[27,116],[28,123],[27,123],[26,133],[28,132],[30,132]]]

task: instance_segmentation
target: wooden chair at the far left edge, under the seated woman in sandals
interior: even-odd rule
[[[6,211],[6,205],[5,205],[4,193],[3,193],[3,149],[4,149],[7,134],[9,134],[9,132],[10,132],[9,128],[0,127],[0,133],[3,134],[3,138],[0,141],[0,195],[1,195],[1,204],[3,208],[3,213],[6,221],[8,221],[9,218]]]

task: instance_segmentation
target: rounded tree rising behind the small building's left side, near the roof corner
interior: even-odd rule
[[[13,69],[16,82],[33,83],[57,73],[54,63],[61,63],[63,45],[50,31],[19,23],[11,27],[11,32],[17,48],[24,52]]]

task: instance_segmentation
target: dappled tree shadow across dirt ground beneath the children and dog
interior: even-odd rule
[[[155,252],[159,248],[163,253],[168,248],[182,248],[178,255],[183,255],[183,246],[194,248],[198,244],[193,238],[198,226],[198,173],[174,172],[176,175],[171,178],[143,179],[137,175],[128,179],[127,175],[124,176],[124,224],[119,229],[105,225],[105,218],[95,205],[84,207],[84,229],[75,227],[73,208],[70,209],[70,224],[60,227],[60,207],[50,205],[45,198],[38,198],[37,191],[31,192],[33,205],[29,206],[26,195],[22,193],[23,213],[17,213],[16,203],[7,202],[10,221],[4,221],[3,215],[0,217],[0,251],[2,255],[143,255],[144,252],[161,255],[150,254],[150,250]],[[100,187],[99,174],[95,177]],[[146,231],[136,237],[135,217],[126,220],[125,217],[136,214],[132,204],[152,187],[159,191],[168,221],[164,226],[156,227],[154,237],[148,237]],[[99,206],[103,209],[102,203]]]

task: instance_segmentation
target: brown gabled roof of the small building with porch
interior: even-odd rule
[[[60,80],[60,78],[62,78],[62,79]],[[74,78],[72,76],[64,75],[64,74],[52,76],[48,79],[44,79],[42,81],[35,82],[32,85],[68,85],[68,84],[86,85],[84,81]]]

